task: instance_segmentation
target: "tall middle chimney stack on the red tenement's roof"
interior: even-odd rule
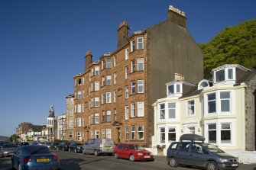
[[[118,49],[120,49],[121,47],[123,47],[125,45],[125,43],[127,43],[128,41],[128,24],[125,21],[122,21],[119,24],[119,28],[118,28]]]

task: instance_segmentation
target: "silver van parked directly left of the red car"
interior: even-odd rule
[[[115,144],[112,139],[89,139],[83,145],[83,154],[93,153],[95,156],[99,156],[99,154],[106,153],[112,156],[114,148]]]

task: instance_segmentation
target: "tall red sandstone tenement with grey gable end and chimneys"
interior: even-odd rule
[[[128,30],[127,22],[119,24],[117,50],[99,61],[87,51],[84,72],[73,77],[74,128],[67,133],[75,141],[107,137],[150,147],[152,104],[166,96],[163,85],[175,73],[192,83],[203,79],[203,53],[183,11],[170,6],[167,21],[131,35]]]

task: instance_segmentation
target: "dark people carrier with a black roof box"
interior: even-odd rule
[[[238,159],[209,143],[196,134],[183,134],[180,142],[173,142],[167,149],[167,162],[171,167],[193,165],[207,170],[236,169]]]

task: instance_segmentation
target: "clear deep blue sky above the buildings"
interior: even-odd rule
[[[256,18],[254,0],[1,0],[0,136],[21,122],[46,123],[51,104],[63,114],[86,51],[96,61],[116,50],[120,22],[130,34],[144,30],[166,21],[169,5],[186,13],[197,43]]]

